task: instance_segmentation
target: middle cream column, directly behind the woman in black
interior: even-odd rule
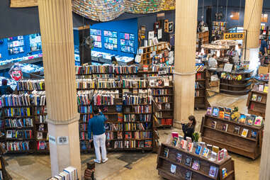
[[[175,17],[174,127],[194,111],[198,0],[177,0]]]

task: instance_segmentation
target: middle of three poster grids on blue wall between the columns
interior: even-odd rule
[[[118,50],[117,46],[117,32],[110,30],[103,30],[104,35],[104,47],[107,50]]]

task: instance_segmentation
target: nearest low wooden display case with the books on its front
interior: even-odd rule
[[[213,159],[210,155],[208,155],[209,157],[203,156],[203,154],[208,154],[209,151],[208,147],[202,148],[198,146],[189,151],[174,145],[162,144],[159,147],[157,157],[159,175],[170,180],[234,180],[235,165],[232,158],[227,155],[227,152],[220,150],[218,152],[218,158],[220,159],[218,160]]]

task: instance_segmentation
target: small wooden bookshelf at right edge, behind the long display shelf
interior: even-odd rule
[[[257,98],[254,99],[254,96],[257,96]],[[261,101],[259,101],[258,99],[259,96],[261,97]],[[250,91],[247,98],[248,113],[265,118],[266,101],[267,93],[265,93],[264,91]]]

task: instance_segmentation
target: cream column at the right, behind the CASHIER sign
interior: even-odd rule
[[[247,39],[244,40],[244,45],[247,48],[243,51],[246,55],[245,60],[249,60],[249,69],[257,69],[259,65],[259,30],[261,26],[261,11],[263,0],[246,0],[244,7],[244,30],[247,30]]]

